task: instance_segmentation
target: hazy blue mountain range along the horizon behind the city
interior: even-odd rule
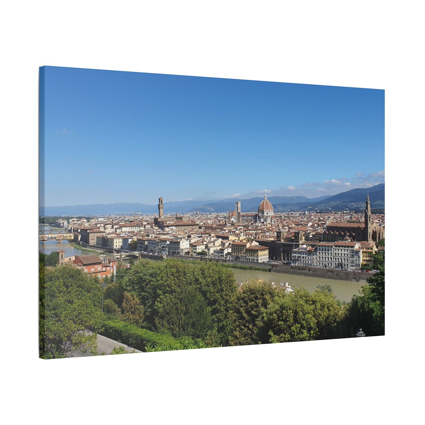
[[[385,208],[385,184],[377,184],[367,189],[352,189],[333,196],[307,198],[305,196],[270,196],[267,199],[272,203],[275,212],[290,212],[303,210],[356,210],[364,208],[367,194],[371,201],[371,208]],[[219,213],[235,210],[237,198],[226,201],[170,201],[164,202],[164,214],[178,212]],[[242,212],[257,212],[262,197],[239,199]],[[63,207],[40,207],[40,215],[119,215],[119,214],[157,214],[158,206],[140,204],[137,202],[116,202],[110,204],[67,205]]]

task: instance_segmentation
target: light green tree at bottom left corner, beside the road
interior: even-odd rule
[[[73,351],[96,348],[96,333],[104,320],[99,281],[71,265],[45,269],[44,273],[40,357],[70,357]]]

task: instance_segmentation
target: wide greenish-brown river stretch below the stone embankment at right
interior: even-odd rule
[[[317,285],[331,285],[335,297],[341,301],[350,301],[353,295],[358,295],[358,290],[365,283],[348,282],[346,280],[310,278],[307,276],[285,275],[283,273],[260,272],[258,270],[232,269],[235,273],[236,283],[246,282],[246,279],[263,279],[275,282],[288,282],[291,289],[305,286],[310,292],[314,292]]]

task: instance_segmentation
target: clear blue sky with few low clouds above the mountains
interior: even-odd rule
[[[384,91],[45,67],[45,201],[334,195],[384,182]]]

